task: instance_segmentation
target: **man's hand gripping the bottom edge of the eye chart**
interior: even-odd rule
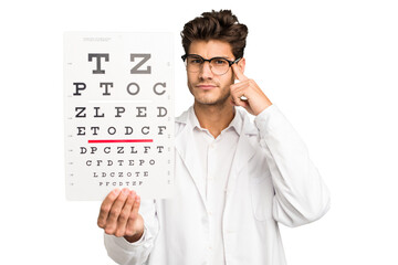
[[[106,234],[138,241],[144,233],[144,220],[138,213],[140,198],[127,188],[109,192],[101,205],[97,224]]]

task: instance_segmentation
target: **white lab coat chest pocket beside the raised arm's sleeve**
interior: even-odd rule
[[[272,219],[273,186],[271,174],[251,178],[251,200],[253,215],[258,221]]]

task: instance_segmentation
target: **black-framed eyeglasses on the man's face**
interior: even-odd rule
[[[232,66],[232,64],[238,63],[241,59],[237,59],[235,61],[230,61],[224,57],[212,57],[212,59],[203,59],[198,54],[185,54],[181,56],[188,72],[197,73],[202,67],[205,62],[209,62],[210,70],[214,75],[223,75],[228,72],[228,70]]]

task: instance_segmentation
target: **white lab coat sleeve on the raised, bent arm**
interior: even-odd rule
[[[254,123],[274,186],[274,220],[298,226],[323,216],[329,209],[328,189],[292,125],[274,105],[259,114]]]

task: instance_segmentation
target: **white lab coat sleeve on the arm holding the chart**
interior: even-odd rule
[[[142,200],[139,213],[144,219],[145,229],[142,239],[137,242],[129,243],[124,237],[104,234],[108,256],[117,264],[145,264],[154,248],[154,242],[159,230],[155,201]]]

